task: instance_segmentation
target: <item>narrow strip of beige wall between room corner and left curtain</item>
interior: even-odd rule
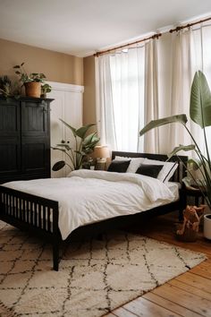
[[[84,95],[83,95],[83,123],[96,124],[96,87],[95,87],[95,57],[83,59]],[[95,127],[96,130],[96,127]]]

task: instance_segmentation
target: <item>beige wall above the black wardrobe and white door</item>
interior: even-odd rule
[[[22,62],[27,73],[45,73],[47,81],[83,85],[83,58],[0,39],[0,76],[17,78],[13,66]]]

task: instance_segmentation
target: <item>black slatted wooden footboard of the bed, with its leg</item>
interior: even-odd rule
[[[53,267],[58,270],[59,244],[58,201],[0,186],[0,219],[44,237],[53,245]]]

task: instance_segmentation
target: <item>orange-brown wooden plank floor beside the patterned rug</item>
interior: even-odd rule
[[[207,261],[173,278],[161,287],[109,313],[107,317],[211,317],[211,241],[199,233],[197,242],[182,243],[173,236],[177,214],[150,220],[148,226],[132,229],[142,236],[155,238],[186,249],[207,254]]]

